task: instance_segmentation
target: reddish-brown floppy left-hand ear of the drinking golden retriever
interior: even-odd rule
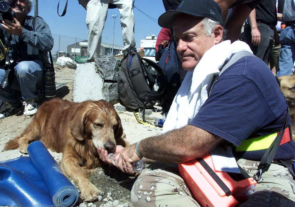
[[[77,140],[84,140],[85,138],[85,123],[87,119],[87,112],[84,110],[76,110],[73,120],[70,120],[69,127],[72,135]]]

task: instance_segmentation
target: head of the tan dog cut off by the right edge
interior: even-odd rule
[[[277,83],[288,102],[291,114],[294,111],[293,108],[295,108],[295,76],[283,75],[277,77]]]

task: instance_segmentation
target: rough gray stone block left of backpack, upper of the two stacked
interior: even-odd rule
[[[99,56],[95,59],[96,72],[105,82],[115,81],[118,79],[118,70],[122,58]]]

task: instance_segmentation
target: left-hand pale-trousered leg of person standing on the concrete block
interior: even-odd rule
[[[88,61],[100,54],[101,34],[108,14],[109,0],[90,0],[87,4],[86,25],[88,28]]]

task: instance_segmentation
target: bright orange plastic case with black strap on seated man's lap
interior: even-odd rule
[[[198,160],[191,160],[186,163],[179,164],[179,173],[181,177],[183,177],[183,179],[187,182],[187,185],[189,186],[195,199],[203,207],[235,206],[238,204],[238,198],[245,198],[247,190],[256,186],[256,181],[252,177],[241,181],[235,181],[226,172],[215,171],[210,154],[203,156],[202,158],[231,192],[231,195],[226,196],[226,193]]]

